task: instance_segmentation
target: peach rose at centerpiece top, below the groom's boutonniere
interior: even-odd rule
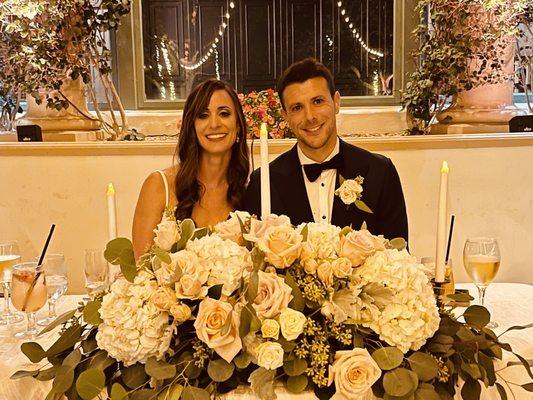
[[[384,250],[384,239],[372,235],[366,229],[351,231],[346,236],[341,236],[337,253],[340,257],[348,258],[352,266],[358,267],[366,258],[377,250]]]

